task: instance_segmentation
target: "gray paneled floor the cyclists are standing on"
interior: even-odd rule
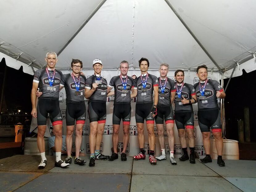
[[[64,157],[63,157],[64,158]],[[95,167],[72,163],[68,168],[38,170],[39,156],[16,155],[0,159],[0,191],[256,191],[256,161],[225,160],[196,164],[169,159],[150,165],[146,160],[96,160]],[[74,159],[73,159],[74,162]]]

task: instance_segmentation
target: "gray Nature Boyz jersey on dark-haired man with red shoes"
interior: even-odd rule
[[[142,81],[145,82],[147,74],[141,75],[135,79],[134,89],[138,90],[137,93],[137,102],[141,103],[153,103],[153,91],[155,86],[158,86],[157,77],[151,74],[148,74],[146,88],[143,88]],[[142,80],[141,80],[142,78]]]

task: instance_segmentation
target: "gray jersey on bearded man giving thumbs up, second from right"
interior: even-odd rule
[[[177,83],[177,91],[179,91],[181,88],[181,84]],[[184,97],[185,99],[192,99],[192,95],[195,95],[195,89],[193,87],[193,85],[188,84],[188,83],[184,83],[183,88],[181,89],[181,98]],[[178,101],[178,94],[176,92],[175,94],[175,112],[192,112],[193,108],[192,108],[192,104],[185,104],[183,105],[181,103],[181,101]]]

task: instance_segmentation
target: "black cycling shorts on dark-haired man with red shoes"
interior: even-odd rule
[[[147,124],[154,124],[154,117],[151,110],[153,103],[136,104],[135,107],[135,119],[136,123],[144,123],[146,119]]]

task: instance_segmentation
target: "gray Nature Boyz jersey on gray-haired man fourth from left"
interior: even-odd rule
[[[126,77],[127,77],[127,83],[126,83]],[[114,76],[109,81],[109,87],[114,87],[115,90],[115,99],[114,104],[130,104],[131,103],[131,88],[134,87],[134,80],[133,78],[126,76],[123,78],[123,76]],[[123,83],[126,83],[126,89],[123,87]]]

